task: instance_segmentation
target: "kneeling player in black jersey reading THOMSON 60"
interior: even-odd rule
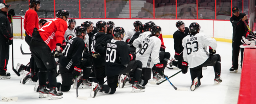
[[[121,75],[119,86],[124,86],[125,82],[129,82],[130,78],[123,74],[133,72],[133,86],[132,92],[144,92],[145,87],[138,84],[141,77],[141,61],[135,61],[135,54],[129,54],[128,46],[122,41],[125,30],[123,27],[115,27],[114,39],[107,40],[105,50],[106,52],[106,76],[107,85],[101,85],[92,82],[91,97],[95,97],[97,92],[106,94],[114,94],[118,87],[118,76]]]

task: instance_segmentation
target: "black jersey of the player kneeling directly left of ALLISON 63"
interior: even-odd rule
[[[181,32],[177,30],[173,34],[173,40],[174,40],[174,50],[175,52],[179,53],[183,51],[184,47],[182,46],[182,40],[187,35],[190,35],[188,27],[185,27],[185,32]]]

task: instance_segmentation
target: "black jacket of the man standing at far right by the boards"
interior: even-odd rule
[[[240,13],[240,15],[238,17],[233,15],[230,18],[230,22],[232,23],[232,26],[233,26],[232,40],[240,41],[242,39],[242,36],[248,30],[245,23],[242,21],[244,16],[246,16],[246,14]],[[246,23],[248,24],[248,19],[246,20]]]

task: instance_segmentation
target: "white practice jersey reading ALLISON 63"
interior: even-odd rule
[[[217,42],[215,39],[204,34],[187,35],[182,40],[182,46],[184,47],[184,61],[188,62],[189,68],[194,68],[203,64],[208,59],[209,54],[206,51],[208,46],[216,50]]]

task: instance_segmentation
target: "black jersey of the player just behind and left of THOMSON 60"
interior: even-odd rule
[[[98,52],[101,56],[105,56],[105,43],[107,41],[107,35],[104,32],[97,32],[91,37],[91,51]]]

